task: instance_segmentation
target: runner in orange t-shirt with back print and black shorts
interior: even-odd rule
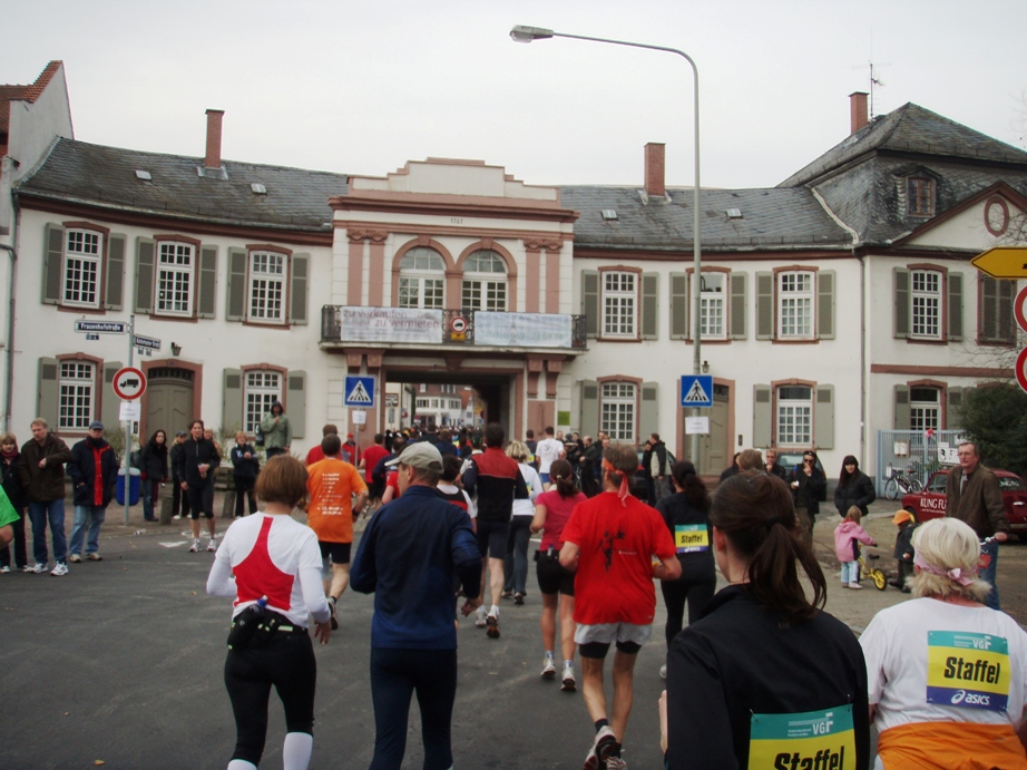
[[[324,459],[312,465],[306,489],[306,523],[317,535],[321,579],[332,611],[332,631],[339,627],[335,604],[350,584],[353,522],[368,501],[368,486],[351,462],[341,459],[342,441],[335,435],[321,440]],[[353,496],[356,496],[355,508]]]

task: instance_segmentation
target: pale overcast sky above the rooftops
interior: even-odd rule
[[[75,136],[382,176],[477,158],[528,184],[640,184],[646,142],[693,182],[692,72],[662,52],[509,38],[514,25],[679,48],[700,69],[704,186],[765,187],[842,140],[848,96],[1027,146],[1024,0],[8,0],[0,82],[68,77]]]

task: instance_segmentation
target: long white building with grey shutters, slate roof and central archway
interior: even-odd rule
[[[958,428],[967,388],[1011,376],[1016,282],[969,260],[1016,237],[1027,153],[911,104],[870,121],[850,98],[851,135],[777,187],[702,192],[704,472],[750,446],[869,469],[881,431]],[[12,428],[116,421],[128,341],[74,325],[134,316],[163,341],[137,360],[144,435],[193,417],[252,432],[278,399],[295,449],[323,422],[365,446],[388,384],[434,383],[473,388],[511,436],[659,432],[687,455],[693,194],[666,187],[662,145],[629,187],[441,158],[362,177],[225,160],[222,118],[203,157],[76,142],[50,117],[17,176],[4,158]],[[378,388],[362,422],[352,374]]]

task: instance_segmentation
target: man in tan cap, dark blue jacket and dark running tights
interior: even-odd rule
[[[372,516],[350,571],[350,585],[374,593],[371,621],[371,770],[399,768],[407,749],[410,698],[417,691],[424,767],[453,764],[450,730],[457,695],[453,578],[467,601],[481,598],[481,554],[467,513],[436,491],[442,456],[428,441],[411,444],[399,466],[400,497]]]

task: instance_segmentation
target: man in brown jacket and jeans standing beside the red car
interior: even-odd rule
[[[961,441],[957,448],[959,466],[949,471],[945,483],[945,515],[970,525],[981,540],[992,537],[980,547],[980,579],[991,585],[985,604],[999,610],[998,544],[1009,538],[1009,519],[998,478],[980,464],[980,449],[974,441]]]

